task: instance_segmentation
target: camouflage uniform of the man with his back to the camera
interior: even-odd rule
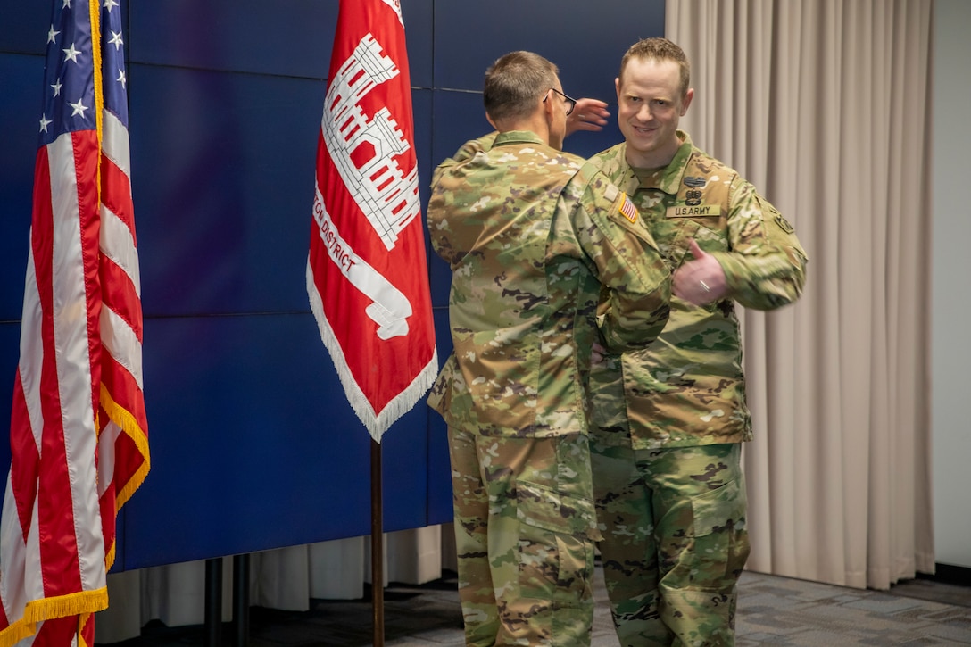
[[[626,196],[583,159],[529,132],[487,147],[439,166],[427,211],[452,266],[454,351],[428,401],[449,425],[466,641],[583,645],[600,290],[606,342],[642,348],[667,320],[670,274]]]

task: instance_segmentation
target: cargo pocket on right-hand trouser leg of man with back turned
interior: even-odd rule
[[[557,607],[593,603],[593,502],[519,481],[519,592]]]

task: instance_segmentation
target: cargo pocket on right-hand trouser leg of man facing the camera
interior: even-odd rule
[[[747,509],[743,476],[691,499],[694,535],[691,588],[724,591],[735,585],[749,559]]]

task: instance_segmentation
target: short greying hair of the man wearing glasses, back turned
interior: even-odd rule
[[[556,86],[558,68],[532,51],[511,51],[485,70],[483,102],[493,121],[523,119],[536,110],[536,100]]]

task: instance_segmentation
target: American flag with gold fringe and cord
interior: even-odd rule
[[[149,471],[117,0],[53,2],[0,517],[0,647],[91,645]]]

